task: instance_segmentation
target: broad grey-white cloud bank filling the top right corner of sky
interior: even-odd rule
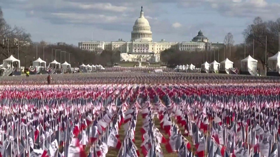
[[[232,17],[262,16],[271,19],[280,14],[280,3],[268,3],[267,0],[181,0],[178,7],[203,7]]]

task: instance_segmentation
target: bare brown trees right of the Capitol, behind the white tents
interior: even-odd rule
[[[218,47],[210,52],[165,50],[161,53],[161,61],[168,65],[195,63],[197,66],[200,66],[207,60],[205,54],[208,53],[208,62],[214,61],[214,59],[222,61],[228,58],[234,62],[236,68],[240,68],[240,60],[251,55],[254,59],[258,60],[259,70],[262,71],[268,65],[268,61],[266,62],[265,58],[275,55],[280,50],[279,32],[280,18],[275,21],[263,21],[260,17],[256,17],[253,23],[248,25],[243,31],[244,43],[234,45],[233,34],[227,33],[224,38],[224,47]],[[219,59],[217,58],[217,52],[220,54]]]

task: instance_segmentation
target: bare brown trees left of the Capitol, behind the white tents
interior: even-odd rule
[[[55,50],[57,51],[55,52]],[[19,59],[21,66],[26,67],[31,66],[37,57],[44,59],[47,64],[54,59],[60,63],[67,61],[72,67],[78,67],[81,64],[112,66],[120,61],[119,51],[105,50],[101,54],[95,54],[79,49],[74,45],[47,44],[44,41],[34,43],[31,40],[31,35],[26,33],[23,28],[11,27],[11,25],[7,24],[0,8],[0,60],[8,58],[10,55]]]

